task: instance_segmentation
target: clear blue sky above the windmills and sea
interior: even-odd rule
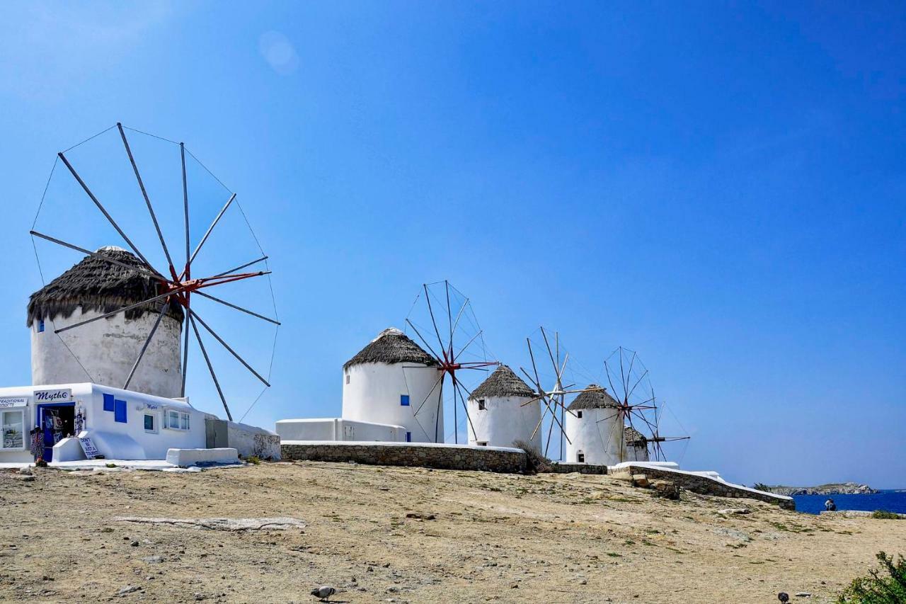
[[[272,258],[284,326],[246,421],[338,415],[342,363],[448,278],[510,365],[539,325],[587,367],[638,351],[685,466],[906,486],[904,17],[6,3],[0,383],[30,379],[54,154],[123,122],[186,141]]]

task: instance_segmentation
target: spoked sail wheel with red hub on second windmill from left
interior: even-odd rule
[[[487,372],[488,367],[500,364],[495,360],[489,360],[484,331],[478,325],[471,301],[446,279],[422,284],[418,296],[412,303],[409,316],[406,317],[405,331],[407,336],[414,335],[437,361],[437,366],[410,369],[439,372],[434,386],[428,395],[418,402],[413,412],[416,420],[419,418],[419,412],[438,388],[440,393],[438,404],[443,405],[444,386],[446,385],[448,393],[452,392],[450,400],[453,407],[454,443],[459,442],[458,407],[460,405],[466,415],[468,430],[474,436],[475,426],[472,425],[472,418],[468,414],[466,404],[472,394],[467,384],[471,384],[472,380],[467,378],[464,383],[463,375],[471,372]],[[439,422],[437,418],[441,414],[442,409],[435,411],[436,422]],[[435,432],[437,440],[440,436],[437,434],[437,425]]]

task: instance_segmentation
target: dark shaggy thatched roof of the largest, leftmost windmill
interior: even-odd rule
[[[139,258],[121,248],[101,248],[98,253],[134,267],[148,268]],[[34,292],[28,300],[27,325],[35,320],[57,316],[71,317],[75,309],[109,313],[121,307],[155,297],[158,282],[138,271],[123,268],[101,258],[86,256],[58,278]],[[126,312],[126,318],[141,317],[146,312],[158,312],[160,301]],[[169,317],[182,321],[182,307],[170,303]]]

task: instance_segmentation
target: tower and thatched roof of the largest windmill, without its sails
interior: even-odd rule
[[[185,312],[175,300],[164,304],[160,313],[158,305],[139,306],[86,323],[65,340],[53,333],[157,296],[157,281],[139,272],[145,267],[134,254],[114,246],[95,253],[97,256],[82,258],[34,292],[29,300],[32,384],[92,380],[118,388],[126,385],[149,395],[182,396],[180,336]],[[145,344],[155,329],[155,336]],[[142,352],[141,363],[136,365]]]

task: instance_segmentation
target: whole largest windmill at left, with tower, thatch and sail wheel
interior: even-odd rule
[[[235,301],[245,294],[238,299],[252,306],[273,303],[269,277],[262,279],[267,256],[236,193],[181,142],[117,123],[57,153],[30,234],[42,280],[45,270],[71,267],[29,302],[34,385],[91,382],[185,397],[187,380],[199,392],[200,376],[188,375],[198,366],[230,420],[227,393],[236,398],[245,371],[262,394],[270,385],[262,375],[269,370],[252,366],[266,362],[254,345],[275,343],[280,322]],[[128,250],[98,248],[99,239]],[[64,248],[80,261],[72,266]],[[243,272],[261,263],[264,270]],[[189,365],[192,344],[204,364]],[[223,364],[232,366],[217,374]]]

